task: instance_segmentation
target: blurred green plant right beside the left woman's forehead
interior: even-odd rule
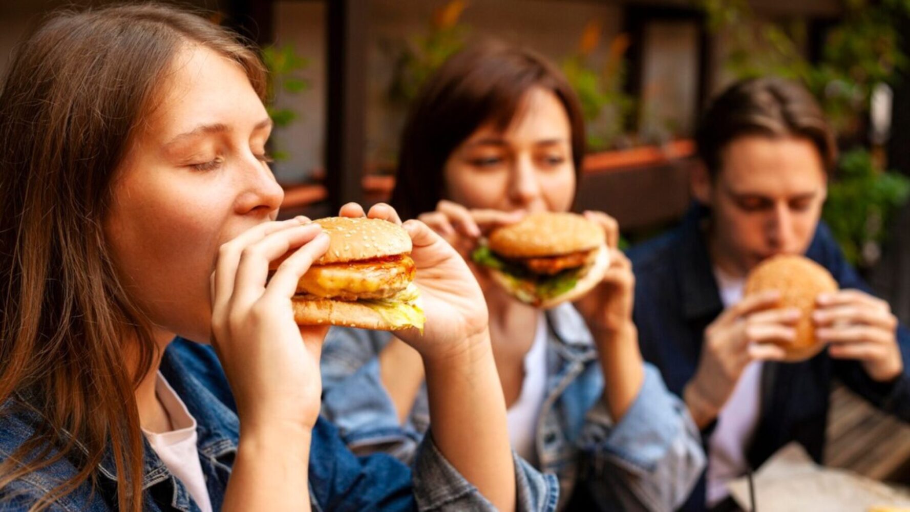
[[[266,110],[268,116],[276,127],[283,128],[296,121],[299,117],[296,110],[275,105],[277,92],[280,90],[291,95],[298,95],[308,91],[309,80],[300,74],[309,66],[309,60],[297,54],[292,45],[268,45],[262,49],[262,61],[268,70],[266,85]],[[273,148],[272,157],[275,160],[287,160],[288,152]]]

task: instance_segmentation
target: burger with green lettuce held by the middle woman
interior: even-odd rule
[[[547,309],[601,282],[610,253],[601,226],[577,214],[548,212],[495,229],[471,260],[511,296]]]

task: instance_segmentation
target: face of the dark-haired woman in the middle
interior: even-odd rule
[[[567,211],[575,196],[569,115],[559,98],[531,89],[505,130],[481,125],[449,156],[448,198],[468,208]]]

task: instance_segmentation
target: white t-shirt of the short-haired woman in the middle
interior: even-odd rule
[[[524,355],[521,395],[512,407],[509,407],[506,417],[512,449],[531,464],[537,464],[534,441],[537,420],[547,392],[547,333],[547,318],[540,314],[531,350]]]

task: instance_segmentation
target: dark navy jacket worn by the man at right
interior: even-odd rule
[[[704,329],[723,311],[701,228],[706,215],[703,208],[694,207],[682,226],[629,253],[636,276],[634,318],[642,355],[660,368],[667,387],[681,397],[698,366]],[[827,268],[842,288],[869,291],[824,223],[805,256]],[[834,360],[826,351],[802,363],[765,363],[759,425],[747,452],[750,465],[761,466],[791,441],[799,441],[822,462],[834,378],[876,407],[910,421],[910,331],[904,326],[898,328],[897,342],[904,375],[889,384],[876,383],[859,363]],[[703,442],[712,430],[713,425],[703,431]],[[703,477],[683,509],[703,510],[704,499]]]

